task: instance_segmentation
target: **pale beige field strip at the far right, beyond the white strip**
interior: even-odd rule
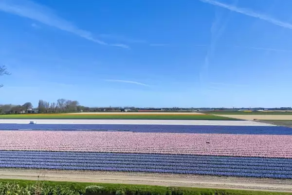
[[[231,117],[244,120],[292,120],[292,115],[215,115],[220,117]]]

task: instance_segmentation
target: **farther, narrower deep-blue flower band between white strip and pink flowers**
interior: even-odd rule
[[[292,135],[291,128],[278,126],[225,125],[135,125],[135,124],[0,124],[0,130],[131,131],[140,133],[201,133]]]

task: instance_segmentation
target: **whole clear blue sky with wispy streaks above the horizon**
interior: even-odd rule
[[[73,3],[74,2],[74,3]],[[0,0],[0,103],[292,106],[291,0]]]

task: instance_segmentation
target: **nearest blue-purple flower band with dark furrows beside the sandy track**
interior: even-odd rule
[[[0,155],[0,168],[292,178],[292,159],[19,151]]]

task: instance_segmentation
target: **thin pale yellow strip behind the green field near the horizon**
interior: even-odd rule
[[[205,115],[203,113],[183,112],[89,112],[89,113],[65,113],[63,115]]]

